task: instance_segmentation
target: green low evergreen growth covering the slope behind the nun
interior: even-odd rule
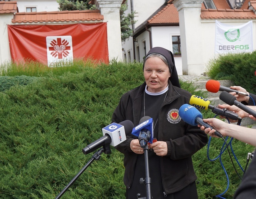
[[[52,69],[33,62],[23,66],[24,70],[13,64],[0,77],[0,81],[11,76],[33,79],[24,84],[15,80],[0,92],[0,198],[55,198],[91,159],[93,153],[84,155],[82,149],[102,136],[101,129],[110,124],[121,95],[144,81],[142,65],[77,60]],[[192,83],[181,82],[181,86],[207,97]],[[213,113],[204,111],[203,116],[213,117]],[[253,147],[238,140],[231,144],[244,168]],[[193,155],[199,199],[215,198],[227,188],[220,159],[207,157],[208,153],[210,159],[218,157],[223,140],[211,139],[208,145],[209,149],[203,147]],[[231,199],[240,179],[227,150],[221,161],[229,177],[223,197]],[[235,166],[243,175],[239,165]],[[93,161],[62,198],[125,198],[123,173],[123,154],[111,147],[111,153]]]

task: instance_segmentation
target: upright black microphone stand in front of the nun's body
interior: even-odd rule
[[[137,194],[138,199],[153,199],[151,196],[151,178],[149,175],[149,164],[148,164],[148,143],[146,142],[145,147],[143,148],[144,151],[144,159],[145,159],[145,173],[146,173],[146,178],[140,178],[140,184],[145,184],[146,185],[146,197],[141,197],[141,194]]]

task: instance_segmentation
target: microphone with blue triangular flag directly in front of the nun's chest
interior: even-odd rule
[[[153,119],[149,116],[144,116],[140,119],[139,125],[134,127],[131,134],[138,137],[141,148],[146,144],[153,143]]]

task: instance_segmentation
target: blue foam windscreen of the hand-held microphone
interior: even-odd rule
[[[201,114],[201,112],[198,111],[198,109],[196,109],[194,106],[191,106],[189,104],[183,104],[180,107],[179,115],[181,119],[184,120],[184,122],[192,126],[197,126],[196,117],[203,118],[203,115]]]

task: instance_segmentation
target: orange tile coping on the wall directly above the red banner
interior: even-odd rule
[[[33,22],[64,22],[64,21],[102,21],[103,15],[100,10],[73,10],[73,11],[52,11],[52,12],[30,12],[16,13],[12,23],[33,23]]]

